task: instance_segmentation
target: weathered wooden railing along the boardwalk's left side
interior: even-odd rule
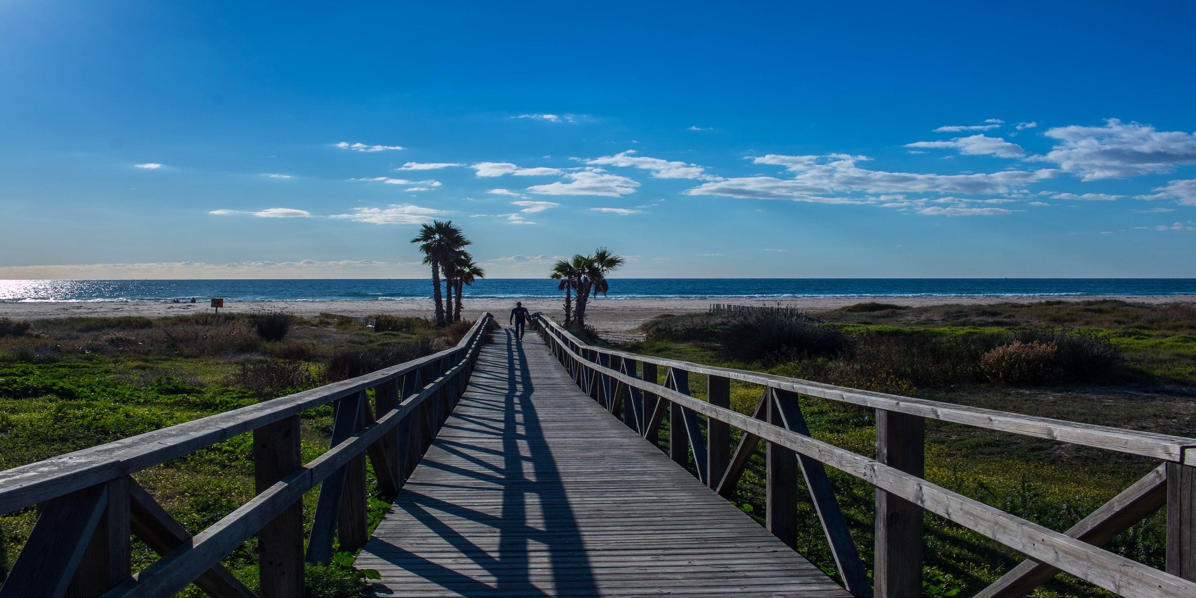
[[[334,536],[342,550],[366,543],[366,457],[393,498],[464,392],[490,319],[426,358],[0,472],[0,513],[39,509],[0,598],[157,598],[193,581],[214,598],[250,598],[220,560],[255,535],[261,598],[303,596],[304,562],[328,562]],[[299,414],[328,403],[330,448],[303,464]],[[194,537],[132,477],[246,432],[257,495]],[[305,550],[301,499],[317,484]],[[130,576],[132,536],[160,559]]]

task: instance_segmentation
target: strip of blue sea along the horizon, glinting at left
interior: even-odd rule
[[[550,279],[483,279],[466,299],[562,293]],[[429,299],[428,279],[0,280],[0,301],[391,301]],[[1196,279],[610,279],[610,298],[1196,295]]]

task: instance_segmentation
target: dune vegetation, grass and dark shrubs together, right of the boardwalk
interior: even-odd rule
[[[1029,415],[1196,437],[1196,306],[1116,300],[902,307],[875,303],[818,313],[661,316],[624,350],[756,370]],[[661,371],[661,376],[663,376]],[[663,379],[660,380],[663,383]],[[704,377],[690,389],[704,397]],[[751,413],[759,389],[732,382]],[[873,456],[871,410],[803,398],[816,438]],[[667,446],[661,434],[660,446]],[[927,422],[927,478],[1055,530],[1066,530],[1157,463],[1122,453]],[[871,567],[871,486],[831,470],[853,537]],[[763,521],[757,450],[733,500]],[[799,505],[799,550],[835,574],[812,504]],[[1020,561],[987,538],[927,515],[926,596],[966,597]],[[1159,567],[1164,513],[1109,549]],[[1111,596],[1061,575],[1036,597]]]

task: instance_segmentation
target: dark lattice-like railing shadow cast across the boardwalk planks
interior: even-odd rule
[[[454,419],[469,423],[468,427],[452,420],[445,426],[446,429],[469,432],[480,441],[443,439],[438,441],[439,448],[453,457],[452,460],[457,463],[439,460],[440,456],[432,452],[421,462],[421,466],[452,471],[471,480],[496,484],[501,488],[501,514],[496,518],[494,514],[466,506],[475,501],[446,502],[429,495],[416,484],[404,489],[403,496],[396,504],[458,550],[463,559],[486,569],[493,575],[494,582],[478,581],[477,575],[465,575],[454,570],[459,565],[433,561],[401,545],[389,544],[373,553],[384,556],[393,566],[434,580],[438,585],[464,596],[549,596],[531,580],[529,556],[537,553],[533,549],[539,548],[536,545],[538,544],[548,548],[555,587],[568,587],[569,593],[597,594],[598,588],[573,507],[569,505],[536,407],[531,401],[536,386],[523,343],[515,341],[509,329],[504,331],[506,332],[504,342],[507,346],[506,376],[495,379],[493,374],[498,373],[495,372],[498,368],[476,373],[474,386],[492,392],[483,390],[484,393],[477,392],[463,398],[463,403],[469,403],[472,409],[469,409],[469,414],[457,413]],[[506,389],[499,397],[493,391],[499,390],[502,384]],[[501,419],[483,415],[487,413],[501,413]],[[494,437],[502,439],[501,452],[492,447]],[[487,443],[488,439],[492,441]],[[499,456],[502,459],[501,468],[495,466],[498,459],[494,457]],[[463,468],[460,460],[480,470]],[[529,464],[532,476],[526,471]],[[460,488],[474,489],[478,494],[493,494],[492,488],[478,488],[474,484]],[[480,498],[480,500],[487,499]],[[539,506],[536,523],[543,525],[543,529],[529,521],[530,504]],[[450,519],[451,523],[446,521]],[[462,519],[498,530],[498,553],[492,554],[493,549],[478,545],[458,532]],[[483,535],[486,536],[488,535]],[[379,590],[378,594],[385,596],[386,591]]]

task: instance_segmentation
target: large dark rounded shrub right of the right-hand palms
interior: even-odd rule
[[[742,361],[834,355],[850,344],[837,328],[798,312],[737,315],[718,338],[725,354]]]

